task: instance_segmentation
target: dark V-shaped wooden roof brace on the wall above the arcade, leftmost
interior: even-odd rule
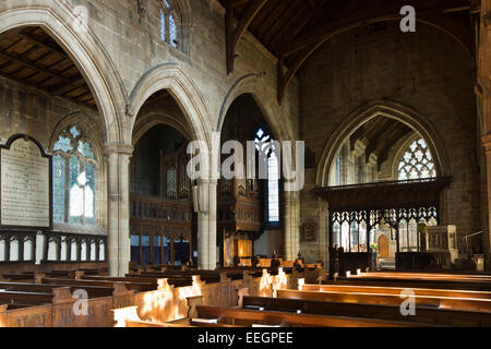
[[[246,34],[249,25],[254,17],[266,4],[267,0],[252,0],[246,8],[242,17],[239,20],[237,27],[233,28],[233,3],[232,0],[227,0],[226,5],[226,43],[227,43],[227,73],[233,72],[233,62],[236,60],[237,46],[240,39]]]

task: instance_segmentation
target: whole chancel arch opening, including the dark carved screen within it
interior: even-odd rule
[[[342,249],[347,265],[367,258],[372,266],[383,241],[379,263],[409,267],[412,254],[426,251],[426,227],[444,220],[443,189],[451,177],[442,167],[443,151],[435,147],[438,134],[419,128],[408,115],[375,109],[346,122],[354,128],[340,132],[337,140],[343,143],[328,149],[328,185],[316,190],[330,209],[328,231],[323,233],[332,253]]]

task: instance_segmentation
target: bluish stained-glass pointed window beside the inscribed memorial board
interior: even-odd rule
[[[72,125],[55,143],[52,205],[56,224],[96,224],[97,161],[87,137]]]

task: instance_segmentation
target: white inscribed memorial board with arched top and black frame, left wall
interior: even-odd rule
[[[51,228],[51,157],[25,135],[0,151],[0,226]]]

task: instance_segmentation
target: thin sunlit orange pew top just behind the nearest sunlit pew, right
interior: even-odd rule
[[[386,293],[402,294],[406,288],[402,287],[379,287],[379,286],[360,286],[360,285],[303,285],[302,291],[321,291],[321,292],[368,292],[368,293]],[[446,290],[446,289],[428,289],[411,288],[416,296],[433,296],[433,297],[453,297],[453,298],[475,298],[491,299],[490,291],[469,291],[469,290]]]

